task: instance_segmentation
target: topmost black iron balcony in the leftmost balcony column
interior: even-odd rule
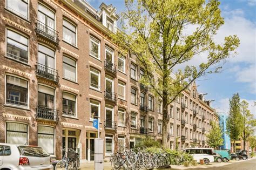
[[[37,20],[36,23],[36,33],[40,36],[43,36],[51,42],[55,43],[56,45],[59,44],[59,36],[58,36],[58,31],[50,28],[49,26],[45,25],[44,23],[40,22]]]

